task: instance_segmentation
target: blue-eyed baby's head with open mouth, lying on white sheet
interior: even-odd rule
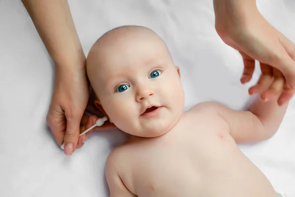
[[[103,34],[89,51],[87,74],[96,105],[124,132],[160,136],[181,117],[179,68],[165,42],[148,28],[122,26]]]

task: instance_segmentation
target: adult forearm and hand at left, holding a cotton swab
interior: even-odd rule
[[[64,141],[65,154],[71,155],[86,140],[86,135],[79,138],[80,121],[89,98],[86,57],[67,0],[22,2],[56,64],[55,86],[47,123],[57,143],[61,145]],[[87,121],[91,121],[91,118],[89,120],[89,116],[85,115],[82,124]],[[104,124],[99,128],[108,127]]]

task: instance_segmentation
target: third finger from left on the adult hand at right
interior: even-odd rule
[[[284,84],[286,82],[283,74],[278,69],[273,68],[273,76],[274,76],[274,80],[273,80],[272,84],[260,96],[260,98],[263,101],[268,101],[272,97],[278,98],[281,95],[281,93],[283,92]]]

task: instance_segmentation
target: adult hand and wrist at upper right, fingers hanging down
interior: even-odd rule
[[[270,82],[269,88],[261,95],[269,100],[273,92],[282,90],[278,104],[289,101],[295,90],[295,45],[282,33],[271,26],[261,15],[255,1],[214,0],[215,28],[221,39],[239,51],[244,62],[241,83],[252,78],[255,60],[264,70],[255,88],[249,94],[261,93],[263,84]],[[267,67],[267,69],[265,69]],[[269,69],[271,67],[271,69]],[[267,71],[265,71],[267,70]],[[278,70],[283,74],[277,73]],[[275,76],[274,76],[275,75]],[[284,77],[285,83],[275,80]],[[283,88],[281,88],[283,86]],[[255,90],[255,91],[254,91]]]

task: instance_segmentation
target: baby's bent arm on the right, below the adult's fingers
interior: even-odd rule
[[[259,97],[248,111],[236,111],[222,104],[215,104],[218,114],[229,125],[237,143],[256,143],[272,137],[278,130],[288,103],[279,106],[277,98],[263,102]]]

